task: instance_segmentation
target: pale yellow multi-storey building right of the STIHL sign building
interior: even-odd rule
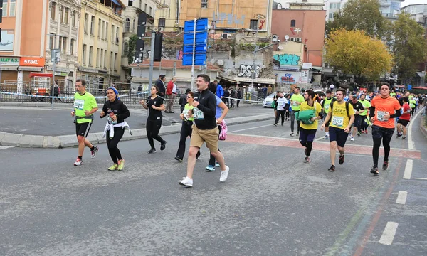
[[[77,77],[100,88],[124,81],[121,68],[125,4],[120,0],[82,0]]]

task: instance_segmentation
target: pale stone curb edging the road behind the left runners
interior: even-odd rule
[[[252,117],[235,117],[227,120],[227,125],[244,124],[249,122],[259,122],[265,120],[273,120],[274,117],[266,117],[265,114],[256,115]],[[181,124],[172,124],[170,126],[160,129],[159,135],[176,134],[181,132]],[[96,132],[88,135],[88,139],[92,144],[105,143],[105,138],[102,138],[103,132]],[[145,129],[133,129],[132,135],[125,132],[122,141],[143,139],[147,138]],[[75,135],[61,135],[61,136],[41,136],[41,135],[23,135],[12,134],[7,132],[0,132],[0,145],[1,146],[17,146],[23,148],[48,148],[48,149],[61,149],[71,146],[78,146]]]

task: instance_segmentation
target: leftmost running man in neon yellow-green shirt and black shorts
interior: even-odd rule
[[[98,151],[97,146],[93,146],[92,143],[86,137],[88,137],[90,126],[93,122],[93,113],[97,112],[97,103],[95,97],[86,91],[86,81],[83,79],[75,80],[75,92],[74,95],[74,106],[71,116],[75,117],[75,133],[78,140],[78,157],[75,160],[75,166],[81,166],[83,164],[83,151],[85,146],[90,148],[90,158],[94,159]]]

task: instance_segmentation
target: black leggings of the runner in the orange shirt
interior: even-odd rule
[[[379,147],[381,146],[381,139],[384,146],[384,161],[389,161],[390,154],[390,142],[394,134],[394,128],[384,128],[376,125],[372,125],[372,139],[374,140],[374,146],[372,148],[372,158],[374,160],[374,166],[378,166],[379,158]]]

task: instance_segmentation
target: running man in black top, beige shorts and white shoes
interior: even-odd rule
[[[191,134],[191,143],[189,149],[189,160],[187,164],[186,176],[179,181],[182,186],[193,186],[193,171],[196,165],[196,154],[201,145],[206,142],[206,147],[218,161],[221,167],[219,181],[226,181],[230,168],[226,166],[223,154],[218,151],[218,126],[216,124],[216,97],[209,89],[210,78],[208,75],[197,75],[197,90],[200,95],[193,102],[194,125]],[[198,101],[196,101],[198,100]]]

